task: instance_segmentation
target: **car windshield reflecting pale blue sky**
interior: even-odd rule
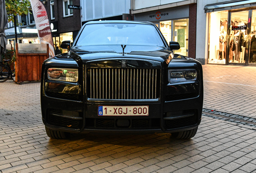
[[[76,42],[76,46],[116,44],[165,46],[155,26],[149,24],[87,24]]]

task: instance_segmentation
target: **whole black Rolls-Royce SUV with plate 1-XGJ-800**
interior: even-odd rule
[[[93,21],[68,53],[43,62],[41,111],[47,135],[171,133],[194,137],[203,103],[202,65],[174,54],[151,22]]]

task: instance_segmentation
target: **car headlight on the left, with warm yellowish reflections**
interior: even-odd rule
[[[47,76],[48,76],[48,79],[51,79],[51,80],[77,82],[78,81],[78,69],[48,68]]]

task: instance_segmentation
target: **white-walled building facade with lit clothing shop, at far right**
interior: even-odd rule
[[[255,0],[198,0],[197,16],[196,58],[256,66]]]

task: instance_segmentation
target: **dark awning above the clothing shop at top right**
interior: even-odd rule
[[[255,0],[232,0],[228,2],[220,2],[215,4],[207,4],[204,6],[204,12],[215,12],[223,10],[233,10],[238,8],[248,8],[256,6]]]

